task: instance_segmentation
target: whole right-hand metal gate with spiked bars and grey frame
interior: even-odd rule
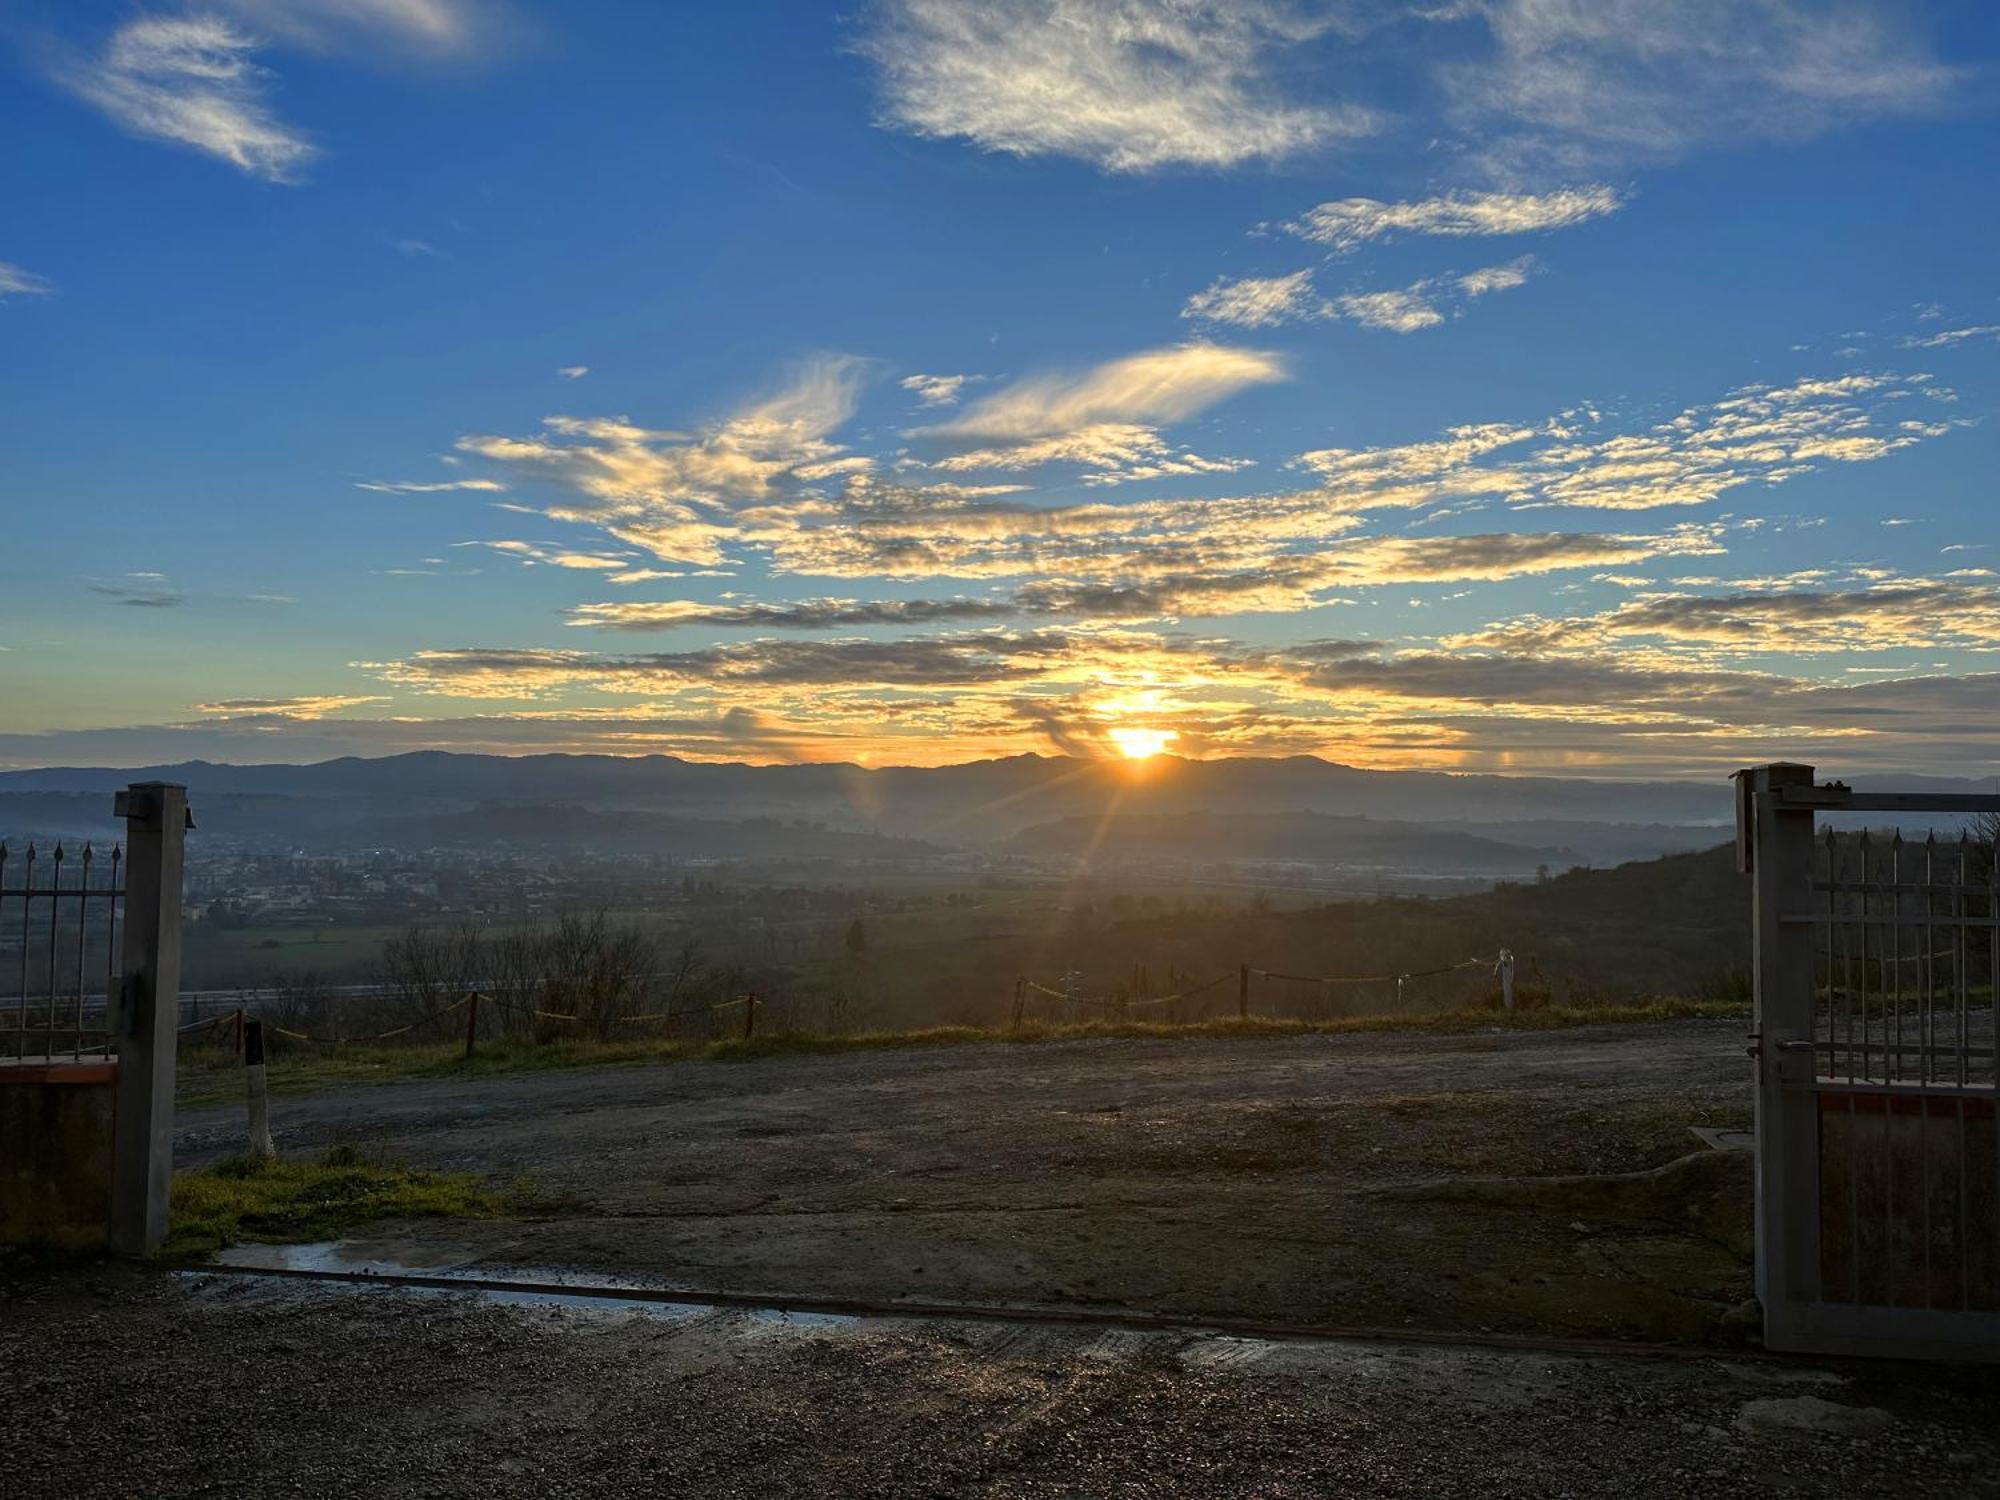
[[[1756,876],[1756,1284],[1764,1342],[2000,1358],[1994,1000],[2000,796],[1852,792],[1738,772]],[[1820,812],[1946,836],[1816,830]]]

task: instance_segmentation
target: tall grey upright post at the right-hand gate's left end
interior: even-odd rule
[[[1756,882],[1756,1294],[1766,1348],[1798,1348],[1794,1326],[1820,1300],[1820,1108],[1812,1092],[1812,808],[1780,788],[1812,766],[1736,772],[1738,866]],[[1792,918],[1792,920],[1784,920]]]

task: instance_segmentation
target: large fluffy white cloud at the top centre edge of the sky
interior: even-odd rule
[[[1214,168],[1378,128],[1268,76],[1274,52],[1334,20],[1286,0],[884,0],[860,50],[888,126],[1110,172]]]

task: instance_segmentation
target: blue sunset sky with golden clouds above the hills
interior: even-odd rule
[[[2000,772],[1982,0],[16,0],[0,766]]]

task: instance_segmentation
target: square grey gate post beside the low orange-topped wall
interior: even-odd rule
[[[188,788],[134,782],[126,820],[124,976],[116,1006],[110,1246],[150,1256],[166,1238],[174,1186],[174,1026],[180,1020],[180,858]]]

